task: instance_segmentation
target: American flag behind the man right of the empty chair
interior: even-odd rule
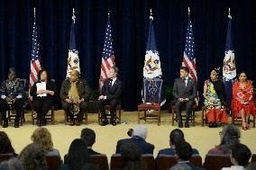
[[[188,23],[187,23],[186,46],[185,46],[182,66],[189,68],[189,76],[193,78],[193,80],[197,83],[196,58],[194,57],[194,36],[193,36],[193,30],[192,30],[192,22],[189,15],[188,15]],[[199,101],[199,98],[197,97],[196,98],[197,105],[198,105],[198,101]]]

